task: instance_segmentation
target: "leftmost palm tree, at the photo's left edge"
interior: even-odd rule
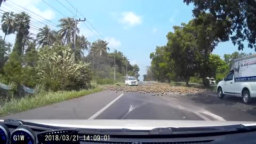
[[[1,22],[2,22],[2,30],[4,32],[4,41],[5,41],[6,35],[14,33],[14,13],[5,12],[2,16]]]

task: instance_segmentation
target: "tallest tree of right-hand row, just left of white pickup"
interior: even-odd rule
[[[220,41],[224,41],[228,38],[228,35],[220,35],[221,27],[222,23],[215,21],[213,15],[204,12],[199,14],[197,18],[189,21],[187,27],[185,27],[186,33],[190,33],[195,39],[196,69],[205,87],[209,86],[206,77],[209,73],[209,69],[211,69],[209,65],[207,65],[210,53]],[[223,30],[228,31],[229,29]]]

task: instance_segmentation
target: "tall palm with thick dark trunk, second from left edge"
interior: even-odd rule
[[[30,16],[25,12],[15,14],[15,25],[14,30],[17,31],[16,41],[13,47],[13,51],[17,51],[18,54],[22,54],[23,37],[29,33]]]

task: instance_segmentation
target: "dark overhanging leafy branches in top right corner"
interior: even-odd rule
[[[187,5],[194,3],[193,14],[196,18],[201,13],[209,12],[213,17],[213,25],[219,25],[218,35],[229,36],[222,41],[231,41],[238,45],[238,50],[244,49],[243,41],[248,41],[248,47],[256,51],[256,1],[232,0],[183,0]],[[234,34],[235,33],[235,34]]]

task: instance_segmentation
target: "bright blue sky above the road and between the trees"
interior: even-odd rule
[[[63,17],[49,5],[41,0],[9,0],[25,6],[27,9],[42,15],[42,17],[58,24],[58,20]],[[69,8],[73,13],[55,0],[44,0],[59,10],[66,17],[74,17],[75,10],[65,0],[58,0]],[[108,0],[108,1],[82,1],[68,0],[77,10],[82,13],[92,26],[97,29],[100,35],[110,43],[111,51],[117,49],[122,51],[132,64],[140,67],[139,74],[146,73],[146,66],[150,65],[149,54],[155,51],[155,47],[165,45],[166,34],[173,31],[172,27],[180,25],[181,22],[188,22],[193,18],[191,10],[193,5],[187,6],[182,0]],[[6,3],[12,4],[8,1]],[[5,11],[8,5],[3,4]],[[4,9],[6,8],[6,9]],[[1,7],[2,9],[2,7]],[[83,19],[81,15],[78,17]],[[81,28],[81,34],[88,37],[93,42],[98,39],[89,28],[99,36],[97,31],[89,23],[81,22],[78,26]],[[33,33],[33,31],[31,31]],[[34,33],[36,33],[34,31]],[[2,33],[1,33],[2,35]],[[101,37],[100,37],[101,38]],[[6,38],[9,42],[14,42],[14,36]],[[220,43],[213,53],[223,57],[225,53],[233,53],[237,50],[231,42]],[[244,52],[255,53],[252,49],[245,49]]]

